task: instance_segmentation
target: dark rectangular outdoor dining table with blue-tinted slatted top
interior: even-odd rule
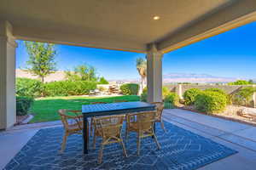
[[[82,113],[84,117],[84,154],[88,154],[89,128],[88,118],[92,116],[110,116],[134,113],[138,111],[154,111],[155,105],[145,102],[121,102],[111,104],[82,105]]]

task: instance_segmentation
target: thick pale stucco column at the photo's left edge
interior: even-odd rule
[[[8,21],[0,20],[0,129],[16,122],[15,38]]]

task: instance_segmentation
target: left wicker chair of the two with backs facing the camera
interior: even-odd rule
[[[121,130],[123,127],[124,115],[117,116],[101,116],[94,118],[95,131],[93,144],[96,148],[96,137],[102,138],[102,144],[99,151],[98,163],[102,162],[103,148],[106,144],[119,143],[122,146],[125,157],[127,153],[125,150],[125,144],[121,136]]]

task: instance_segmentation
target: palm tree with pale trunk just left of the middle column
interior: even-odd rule
[[[139,94],[142,94],[144,88],[144,82],[147,77],[147,60],[143,58],[137,58],[136,60],[136,67],[139,75],[141,76],[141,88]]]

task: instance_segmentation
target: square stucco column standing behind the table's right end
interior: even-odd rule
[[[151,45],[147,54],[148,102],[162,101],[162,56],[155,45]]]

